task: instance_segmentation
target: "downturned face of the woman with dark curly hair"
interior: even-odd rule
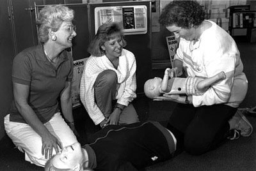
[[[190,29],[184,29],[176,25],[167,26],[166,29],[175,35],[175,38],[184,38],[187,41],[193,41],[196,39],[196,29],[191,27]]]

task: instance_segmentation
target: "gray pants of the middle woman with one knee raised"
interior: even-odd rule
[[[95,91],[95,103],[105,117],[109,117],[116,105],[117,76],[113,70],[102,71],[93,85]],[[139,121],[138,114],[130,103],[120,114],[119,124],[131,124]]]

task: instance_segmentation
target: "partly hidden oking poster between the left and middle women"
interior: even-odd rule
[[[71,83],[72,107],[81,105],[79,98],[80,80],[84,70],[84,64],[88,57],[74,61],[73,79]]]

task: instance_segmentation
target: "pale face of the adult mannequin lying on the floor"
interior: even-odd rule
[[[83,165],[83,149],[76,142],[64,147],[61,152],[52,158],[52,165],[56,168],[75,168],[77,165]],[[78,166],[78,167],[79,167]]]

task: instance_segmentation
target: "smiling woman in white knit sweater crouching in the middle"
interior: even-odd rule
[[[101,128],[139,121],[131,104],[136,98],[136,59],[125,45],[121,27],[113,22],[99,27],[88,48],[91,56],[84,66],[80,98]]]

